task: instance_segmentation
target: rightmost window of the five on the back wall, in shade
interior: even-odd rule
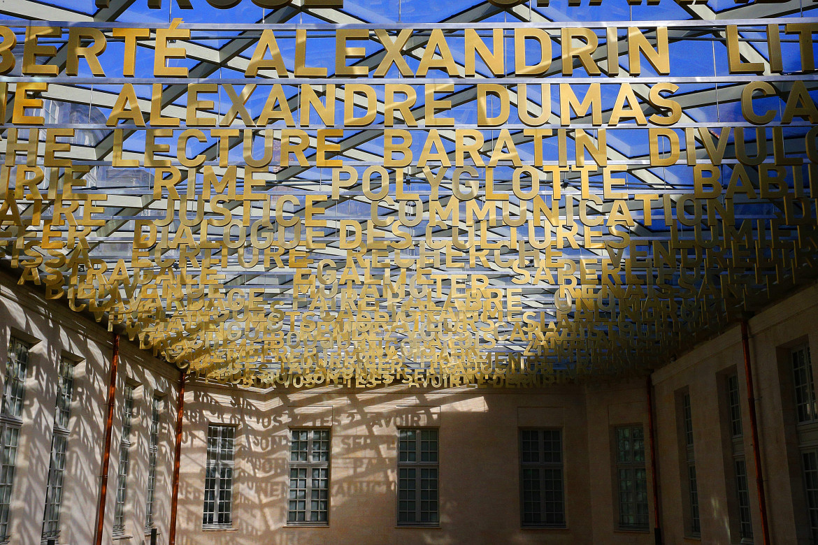
[[[648,529],[648,476],[641,426],[616,428],[619,527]]]

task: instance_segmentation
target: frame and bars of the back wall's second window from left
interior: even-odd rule
[[[289,453],[290,456],[288,457],[288,464],[287,464],[287,518],[286,518],[286,525],[287,526],[329,526],[330,525],[330,485],[331,485],[331,458],[332,458],[332,429],[330,427],[293,427],[289,429],[289,436],[290,436],[290,449]],[[307,433],[307,450],[306,450],[306,459],[305,460],[293,460],[293,446],[294,441],[300,442],[301,440],[296,440],[294,438],[295,433]],[[321,437],[316,438],[314,434],[326,432],[326,460],[313,460],[312,455],[315,452],[314,442],[324,442],[325,440]],[[319,450],[320,452],[320,450]],[[296,509],[293,511],[290,508],[290,504],[293,501],[298,501],[299,498],[291,498],[291,494],[293,491],[292,488],[292,480],[293,480],[293,470],[304,470],[305,476],[305,488],[304,490],[304,520],[297,520],[298,515],[296,515],[296,520],[291,520],[291,516],[293,513],[299,513],[300,510]],[[313,488],[312,481],[315,479],[312,476],[312,472],[314,470],[326,471],[326,498],[321,498],[321,487]],[[297,476],[296,479],[300,479],[300,476]],[[321,480],[321,477],[318,477]],[[301,488],[297,488],[300,490]],[[312,492],[318,491],[319,498],[312,498]],[[310,503],[313,501],[321,502],[326,501],[326,519],[321,520],[312,520],[312,513],[321,513],[323,511],[313,510],[310,506]]]

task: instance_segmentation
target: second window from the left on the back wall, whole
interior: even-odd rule
[[[287,524],[326,525],[330,513],[330,431],[290,430]]]

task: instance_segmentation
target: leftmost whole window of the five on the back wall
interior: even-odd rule
[[[207,429],[205,513],[202,525],[228,528],[233,516],[233,451],[236,427],[210,424]]]

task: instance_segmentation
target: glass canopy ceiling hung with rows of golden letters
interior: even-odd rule
[[[816,2],[98,3],[0,3],[3,260],[203,379],[642,373],[815,276]]]

